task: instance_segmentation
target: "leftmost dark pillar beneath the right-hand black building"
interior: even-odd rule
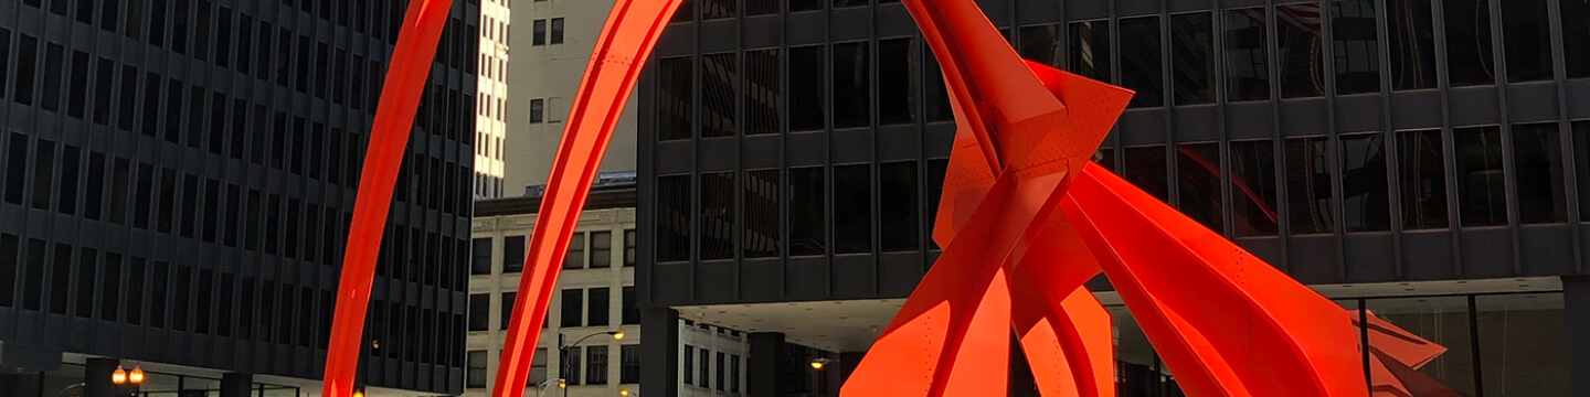
[[[679,395],[679,311],[641,308],[641,395]]]

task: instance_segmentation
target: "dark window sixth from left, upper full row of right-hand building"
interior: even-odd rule
[[[878,40],[878,122],[916,122],[916,37]]]

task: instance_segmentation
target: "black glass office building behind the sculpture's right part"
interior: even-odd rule
[[[1396,365],[1371,348],[1366,387],[1590,395],[1585,0],[978,3],[1022,57],[1137,91],[1099,164],[1361,322],[1444,348]],[[835,395],[940,252],[956,127],[911,16],[692,0],[639,92],[649,341],[673,318],[747,330],[749,395]],[[1092,286],[1121,395],[1180,395]],[[666,346],[646,348],[644,392],[688,395]],[[1019,367],[1013,394],[1032,395]]]

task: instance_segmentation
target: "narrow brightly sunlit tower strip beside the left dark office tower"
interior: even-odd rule
[[[480,54],[475,65],[475,198],[502,197],[502,145],[507,135],[509,0],[480,2]],[[515,192],[517,195],[517,192]]]

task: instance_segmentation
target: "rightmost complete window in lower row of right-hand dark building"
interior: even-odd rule
[[[1518,222],[1568,221],[1563,141],[1557,122],[1512,125],[1512,172],[1518,187]]]

